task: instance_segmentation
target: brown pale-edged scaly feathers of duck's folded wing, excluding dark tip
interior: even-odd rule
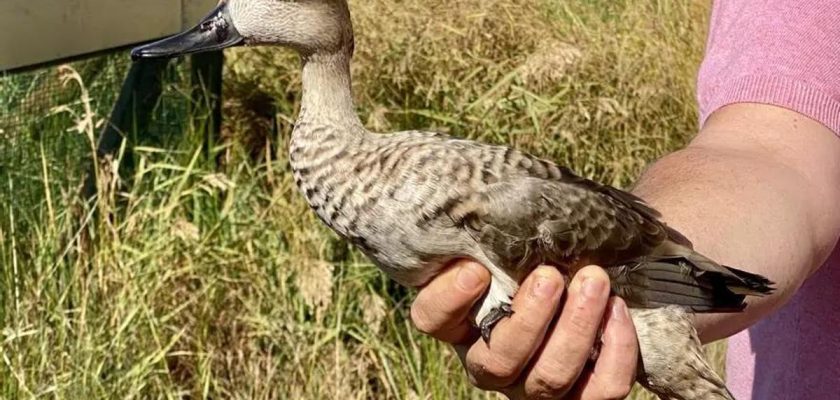
[[[575,183],[516,177],[485,186],[452,217],[508,265],[609,266],[669,239],[651,209],[637,208]]]

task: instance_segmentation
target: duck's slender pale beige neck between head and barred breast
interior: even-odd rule
[[[302,79],[299,125],[327,125],[349,131],[362,127],[353,106],[350,52],[303,57]]]

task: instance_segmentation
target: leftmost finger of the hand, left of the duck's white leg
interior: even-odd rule
[[[420,290],[411,320],[423,333],[448,343],[470,335],[470,309],[490,285],[490,272],[473,261],[456,262]]]

